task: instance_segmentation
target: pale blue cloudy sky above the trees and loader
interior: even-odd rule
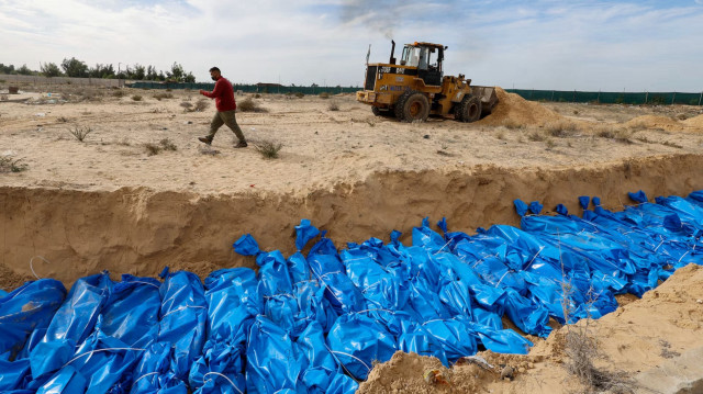
[[[362,85],[390,40],[475,85],[703,91],[703,0],[0,0],[0,63],[174,61],[209,81]],[[121,65],[119,65],[121,64]]]

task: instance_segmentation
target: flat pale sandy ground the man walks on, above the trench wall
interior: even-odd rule
[[[202,112],[181,106],[197,103],[197,92],[174,91],[174,98],[161,100],[154,98],[158,91],[123,92],[122,98],[107,89],[52,97],[43,92],[9,97],[30,98],[26,102],[0,101],[0,155],[27,166],[20,173],[0,175],[0,184],[305,194],[373,172],[467,170],[477,165],[588,167],[703,148],[703,117],[693,106],[540,105],[501,93],[495,113],[476,124],[444,119],[404,124],[373,116],[352,95],[265,94],[254,100],[267,113],[241,112],[237,117],[250,142],[282,144],[280,158],[266,159],[253,145],[234,149],[234,134],[226,127],[212,149],[204,149],[197,137],[207,134],[214,103]],[[332,103],[339,110],[332,111]],[[69,133],[76,127],[93,132],[81,143]],[[149,156],[145,145],[165,138],[177,150]]]

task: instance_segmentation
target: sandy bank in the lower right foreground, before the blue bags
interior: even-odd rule
[[[576,327],[562,327],[535,345],[528,356],[480,352],[494,370],[476,364],[457,364],[446,369],[434,358],[398,352],[378,364],[359,393],[571,393],[580,384],[563,368],[566,334],[585,329],[596,339],[602,358],[596,367],[634,376],[650,370],[688,349],[703,346],[703,267],[678,270],[658,289],[641,300],[621,306],[599,320],[581,320]],[[588,326],[587,326],[588,325]],[[587,327],[587,328],[584,328]],[[500,379],[502,365],[515,370],[515,379]],[[423,375],[437,370],[449,381],[428,384]],[[581,387],[585,389],[585,387]]]

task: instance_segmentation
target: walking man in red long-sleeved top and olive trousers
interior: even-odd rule
[[[215,99],[217,112],[212,119],[212,123],[210,123],[210,134],[207,137],[198,137],[198,139],[208,145],[212,144],[212,139],[215,137],[217,130],[223,124],[226,124],[227,127],[232,128],[234,134],[236,134],[237,138],[239,138],[239,143],[234,147],[246,148],[247,144],[244,138],[244,133],[242,133],[242,128],[239,128],[237,120],[234,116],[237,103],[234,101],[234,89],[232,88],[232,83],[230,83],[230,81],[220,74],[220,69],[217,67],[210,69],[210,77],[215,81],[215,89],[211,92],[201,90],[200,94]]]

